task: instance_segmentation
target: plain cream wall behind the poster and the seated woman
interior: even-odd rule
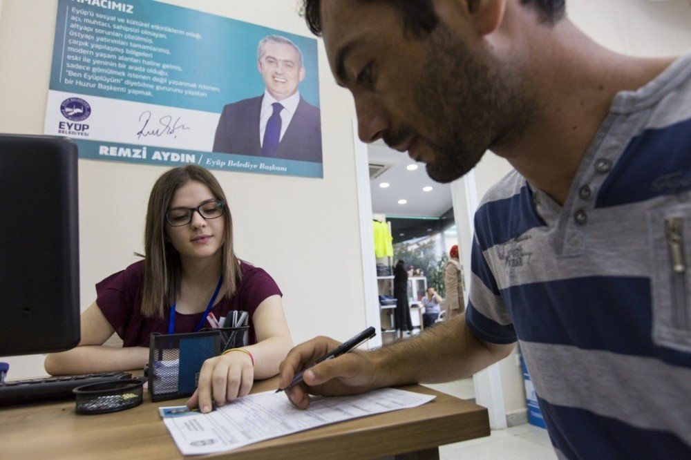
[[[312,36],[296,0],[171,0]],[[3,0],[0,12],[0,132],[43,131],[57,0]],[[231,46],[231,44],[229,44]],[[365,327],[350,94],[333,82],[319,41],[324,178],[214,171],[233,213],[240,258],[281,287],[295,343],[318,334],[345,339]],[[146,200],[159,166],[79,160],[82,309],[94,283],[142,251]],[[30,250],[30,248],[28,248]],[[45,374],[43,357],[1,358],[10,378]]]

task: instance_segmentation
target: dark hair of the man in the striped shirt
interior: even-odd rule
[[[386,1],[398,8],[403,15],[404,27],[416,37],[424,37],[437,26],[439,18],[434,12],[432,4],[428,0],[361,0],[361,1]],[[307,27],[314,35],[321,35],[321,21],[319,21],[320,0],[303,0],[301,14],[307,21]],[[540,12],[540,19],[548,24],[553,24],[564,17],[566,0],[520,0],[522,4],[529,4]]]

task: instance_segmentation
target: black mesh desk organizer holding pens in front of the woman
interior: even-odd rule
[[[151,401],[191,396],[204,361],[248,343],[249,326],[202,329],[189,334],[151,334],[149,394]]]

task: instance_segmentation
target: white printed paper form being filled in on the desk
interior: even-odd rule
[[[209,414],[163,419],[184,455],[240,448],[357,417],[414,408],[435,396],[382,388],[357,396],[315,397],[307,410],[296,408],[285,392],[249,394]]]

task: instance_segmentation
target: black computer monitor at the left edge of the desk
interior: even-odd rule
[[[0,134],[0,356],[79,343],[77,145]]]

